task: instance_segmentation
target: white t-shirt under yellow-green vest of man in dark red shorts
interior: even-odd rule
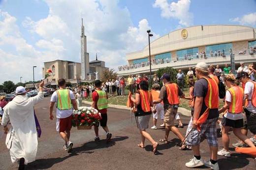
[[[70,95],[70,99],[75,99],[74,93],[69,90],[69,95]],[[51,102],[56,102],[57,105],[57,101],[58,101],[58,94],[56,91],[53,92],[52,97],[51,97]],[[57,118],[66,118],[68,116],[70,116],[73,113],[73,108],[69,109],[69,110],[59,110],[58,108],[56,108],[56,117]]]

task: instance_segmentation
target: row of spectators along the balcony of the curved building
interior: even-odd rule
[[[237,54],[238,55],[245,55],[247,54],[247,49],[244,48],[243,50],[239,51]],[[249,54],[250,55],[254,55],[256,53],[256,46],[253,48],[251,47],[249,50]],[[229,50],[228,52],[225,52],[224,49],[223,50],[215,50],[214,52],[211,51],[209,54],[207,54],[204,51],[196,52],[196,55],[194,56],[193,54],[185,54],[184,56],[177,56],[176,57],[176,61],[184,61],[184,60],[192,60],[192,59],[206,59],[208,57],[226,57],[226,55],[232,55],[234,54],[232,49]],[[171,60],[171,58],[159,58],[159,59],[153,59],[151,60],[151,65],[156,65],[156,64],[163,64],[163,63],[169,63],[169,62],[175,62],[173,60]],[[138,63],[133,63],[130,65],[121,65],[118,66],[118,70],[119,71],[123,71],[123,70],[130,70],[130,69],[136,69],[136,68],[140,68],[140,67],[146,67],[149,66],[149,60],[146,62],[138,62]]]

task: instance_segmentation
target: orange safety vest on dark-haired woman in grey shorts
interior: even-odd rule
[[[140,93],[140,105],[144,112],[150,112],[151,111],[151,100],[152,95],[148,90],[139,90]]]

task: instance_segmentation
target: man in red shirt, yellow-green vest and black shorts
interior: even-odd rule
[[[100,126],[104,129],[104,131],[107,133],[106,142],[109,143],[112,137],[112,134],[109,133],[108,127],[107,127],[107,108],[108,108],[108,102],[107,102],[107,95],[106,92],[101,89],[101,82],[100,80],[95,81],[95,91],[92,93],[93,96],[93,103],[92,107],[95,108],[99,113],[101,113],[102,119],[100,120]],[[98,136],[98,126],[94,125],[94,131],[96,138],[94,139],[95,142],[99,142],[99,136]]]

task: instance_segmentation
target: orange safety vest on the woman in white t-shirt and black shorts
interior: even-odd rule
[[[243,88],[235,85],[227,90],[230,92],[232,97],[232,101],[231,101],[231,104],[229,105],[228,112],[229,113],[243,112],[243,98],[244,98]]]

